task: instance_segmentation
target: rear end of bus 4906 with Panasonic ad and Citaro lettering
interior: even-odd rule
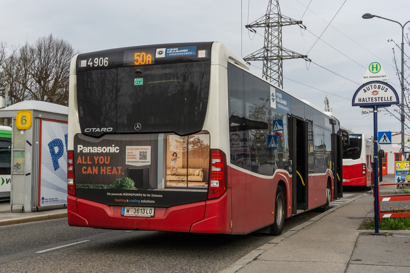
[[[228,130],[219,76],[226,68],[212,63],[211,47],[139,46],[73,57],[69,225],[231,232],[228,133],[220,132]]]

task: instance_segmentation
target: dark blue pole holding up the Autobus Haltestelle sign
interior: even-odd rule
[[[374,166],[378,166],[378,136],[377,136],[377,105],[373,106],[373,135],[374,135],[374,151],[373,151],[373,158],[374,158]],[[374,168],[374,185],[373,185],[373,192],[374,192],[374,232],[372,234],[379,235],[382,234],[379,232],[379,180],[378,180],[378,168]]]

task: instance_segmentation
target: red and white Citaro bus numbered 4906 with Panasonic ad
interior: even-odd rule
[[[280,234],[342,194],[338,131],[219,42],[75,55],[68,223]]]

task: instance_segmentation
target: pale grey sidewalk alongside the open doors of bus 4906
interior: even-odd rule
[[[384,237],[357,230],[373,209],[373,196],[334,209],[276,237],[221,272],[410,272],[410,231],[393,231],[393,237]],[[251,257],[258,251],[260,255]]]

